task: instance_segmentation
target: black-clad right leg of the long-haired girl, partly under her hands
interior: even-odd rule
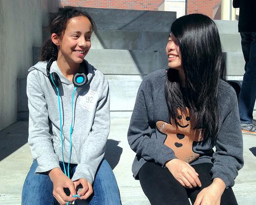
[[[202,163],[198,165],[193,165],[192,167],[199,174],[198,177],[202,183],[202,187],[187,189],[188,196],[192,204],[194,204],[198,193],[205,187],[208,187],[212,182],[211,174],[210,174],[210,169],[212,167],[212,164]],[[221,197],[221,205],[238,205],[236,197],[234,196],[233,190],[231,188],[225,189],[225,191],[223,192]]]

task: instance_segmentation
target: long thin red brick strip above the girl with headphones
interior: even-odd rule
[[[163,2],[164,0],[61,0],[62,6],[133,10],[158,10]]]

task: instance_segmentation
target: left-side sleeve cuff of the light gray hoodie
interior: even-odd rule
[[[38,167],[35,170],[35,174],[39,174],[42,172],[48,172],[56,167],[59,167],[59,157],[56,155],[52,157],[51,159],[49,156],[39,156],[36,159],[36,162],[38,164]]]

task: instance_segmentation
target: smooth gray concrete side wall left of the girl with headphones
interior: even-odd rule
[[[17,78],[27,76],[42,25],[59,6],[58,0],[0,0],[0,130],[16,122]]]

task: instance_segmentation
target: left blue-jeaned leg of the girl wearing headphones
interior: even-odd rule
[[[25,179],[22,190],[22,205],[57,204],[52,191],[53,184],[48,174],[35,174],[37,163],[34,160]]]

